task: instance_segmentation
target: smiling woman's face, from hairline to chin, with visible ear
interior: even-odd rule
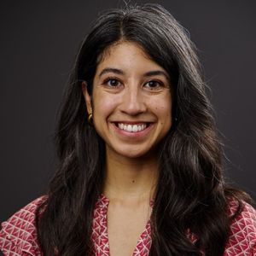
[[[83,91],[108,155],[147,155],[171,128],[170,78],[136,43],[110,46],[96,68],[92,102]]]

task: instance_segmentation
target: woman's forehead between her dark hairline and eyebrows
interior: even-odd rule
[[[164,71],[164,68],[152,60],[142,46],[127,41],[112,44],[103,52],[98,61],[96,73],[100,73],[105,67],[137,72],[156,68]]]

